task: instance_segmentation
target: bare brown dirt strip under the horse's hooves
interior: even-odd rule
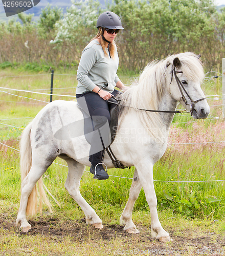
[[[182,232],[170,229],[172,242],[163,243],[151,237],[150,227],[139,225],[139,234],[130,234],[123,230],[121,225],[104,225],[101,230],[85,224],[85,219],[78,221],[59,221],[51,217],[38,218],[29,221],[32,228],[29,232],[22,232],[15,227],[15,223],[2,215],[0,217],[0,228],[13,230],[17,236],[42,236],[52,237],[58,242],[63,242],[64,237],[70,237],[71,241],[84,243],[87,240],[112,241],[120,238],[124,243],[132,242],[136,245],[133,255],[225,255],[225,235],[218,232],[193,232],[186,228]],[[212,225],[214,225],[212,223]],[[216,227],[215,227],[216,229]],[[97,241],[98,242],[98,241]],[[138,249],[140,244],[142,249]],[[130,249],[123,249],[118,254],[131,255]],[[115,255],[115,252],[110,254]]]

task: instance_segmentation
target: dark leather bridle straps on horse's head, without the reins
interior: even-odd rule
[[[205,98],[202,98],[202,99],[198,99],[198,100],[192,100],[191,96],[190,96],[190,95],[187,93],[187,91],[185,90],[185,88],[184,88],[184,86],[183,86],[181,80],[179,80],[179,78],[178,78],[177,75],[176,75],[176,74],[179,74],[179,73],[183,73],[183,71],[182,71],[182,70],[177,70],[177,71],[175,71],[175,67],[172,66],[172,69],[171,69],[171,71],[170,71],[170,74],[171,74],[171,81],[170,81],[170,84],[171,84],[171,82],[172,82],[173,75],[174,75],[174,77],[175,77],[175,79],[176,79],[177,86],[178,86],[179,91],[181,92],[181,95],[182,95],[181,99],[182,99],[182,100],[184,101],[184,103],[185,103],[185,109],[186,109],[187,112],[191,113],[191,116],[192,116],[193,111],[194,111],[195,103],[197,103],[197,102],[199,102],[199,101],[201,101],[201,100],[206,99],[206,97],[205,97]],[[183,93],[182,89],[184,90],[184,92],[186,93],[186,95],[188,96],[188,98],[190,99],[191,104],[187,102],[187,100],[186,100],[186,98],[185,98],[185,96],[184,96],[184,93]]]

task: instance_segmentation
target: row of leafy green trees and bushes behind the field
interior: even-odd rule
[[[140,71],[154,59],[191,51],[202,55],[207,71],[221,70],[225,8],[218,10],[212,0],[114,0],[105,9],[98,1],[72,0],[64,15],[49,5],[37,22],[20,13],[21,22],[0,24],[0,63],[76,69],[106,10],[117,13],[125,28],[116,38],[122,69]]]

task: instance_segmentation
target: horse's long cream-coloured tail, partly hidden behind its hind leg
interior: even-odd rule
[[[20,140],[21,182],[27,177],[32,166],[32,148],[31,148],[31,139],[30,139],[31,128],[32,128],[32,122],[26,126]],[[38,180],[38,188],[39,188],[39,197],[40,197],[39,208],[37,209],[38,189],[37,189],[37,184],[35,184],[28,198],[27,215],[34,215],[38,211],[42,212],[42,198],[46,203],[46,205],[49,207],[50,212],[52,212],[51,203],[49,202],[49,199],[47,198],[46,193],[43,189],[42,177]]]

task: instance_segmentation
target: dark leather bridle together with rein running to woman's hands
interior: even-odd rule
[[[177,77],[176,74],[180,74],[180,73],[183,73],[182,70],[177,70],[175,71],[175,67],[172,65],[172,69],[170,71],[170,74],[171,74],[171,81],[170,81],[170,84],[172,82],[172,79],[173,79],[173,75],[176,79],[176,83],[177,83],[177,86],[179,88],[179,91],[181,92],[181,99],[184,101],[185,103],[185,110],[182,110],[182,111],[169,111],[169,110],[146,110],[146,109],[137,109],[137,108],[133,108],[132,106],[127,106],[127,105],[123,105],[121,103],[119,103],[120,100],[116,99],[114,96],[112,96],[113,99],[115,99],[117,102],[113,102],[114,104],[117,104],[117,105],[120,105],[120,106],[125,106],[126,108],[131,108],[131,109],[135,109],[135,110],[142,110],[142,111],[148,111],[148,112],[158,112],[158,113],[175,113],[175,114],[181,114],[181,113],[184,113],[186,111],[186,113],[191,113],[191,115],[193,114],[193,111],[194,111],[194,105],[195,103],[201,101],[201,100],[205,100],[205,98],[201,98],[201,99],[198,99],[198,100],[192,100],[191,96],[188,94],[188,92],[185,90],[181,80],[179,80],[179,78]],[[184,96],[184,93],[182,91],[182,89],[184,90],[184,92],[186,93],[186,95],[188,96],[188,98],[190,99],[191,101],[191,104],[187,102],[185,96]],[[109,101],[111,102],[110,100],[106,100],[106,101]]]

